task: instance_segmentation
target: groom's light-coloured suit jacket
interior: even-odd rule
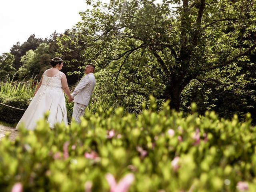
[[[96,80],[93,73],[84,76],[71,94],[74,102],[88,106],[95,85]]]

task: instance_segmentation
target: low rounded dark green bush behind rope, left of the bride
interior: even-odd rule
[[[4,98],[3,94],[0,94],[0,98]],[[1,99],[0,99],[1,100]],[[28,108],[28,101],[26,98],[20,98],[18,96],[11,98],[4,98],[2,103],[19,109]],[[18,110],[10,108],[8,106],[0,105],[0,120],[14,124],[19,122],[20,118],[24,114],[24,110]]]

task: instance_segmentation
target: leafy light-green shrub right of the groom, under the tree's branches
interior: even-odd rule
[[[141,58],[139,62],[138,57]],[[161,95],[165,85],[160,78],[160,68],[147,57],[146,54],[144,56],[133,54],[123,65],[121,61],[112,62],[106,68],[96,72],[94,99],[104,98],[110,106],[121,105],[128,112],[140,113],[142,102],[149,104],[150,95],[154,95],[158,98],[156,99],[157,108],[161,108],[164,101]],[[116,67],[120,65],[122,70]]]

